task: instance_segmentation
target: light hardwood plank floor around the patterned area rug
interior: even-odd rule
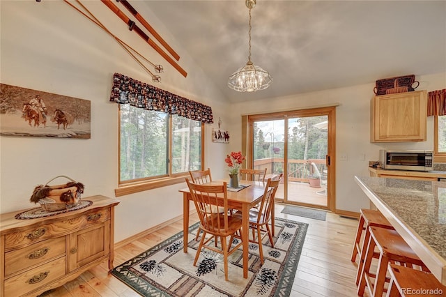
[[[350,257],[358,221],[333,213],[327,214],[326,221],[312,220],[281,213],[283,208],[284,205],[276,204],[276,217],[309,224],[290,296],[357,296],[357,264],[353,264]],[[191,215],[191,224],[192,221],[198,221],[197,215]],[[114,265],[131,259],[182,229],[183,221],[178,220],[116,249]],[[107,262],[104,262],[43,296],[139,296],[121,281],[108,275],[107,270]]]

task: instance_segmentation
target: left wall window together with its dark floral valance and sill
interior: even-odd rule
[[[116,197],[183,183],[187,172],[202,169],[210,106],[120,73],[110,101],[120,104]]]

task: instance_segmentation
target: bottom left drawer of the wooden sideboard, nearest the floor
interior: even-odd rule
[[[65,275],[66,257],[61,257],[5,280],[5,296],[23,296]]]

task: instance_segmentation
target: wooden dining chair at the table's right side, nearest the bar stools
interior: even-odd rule
[[[261,264],[263,264],[263,238],[268,235],[271,247],[274,248],[272,231],[269,224],[271,222],[271,208],[274,205],[273,200],[276,195],[277,188],[279,188],[279,183],[279,179],[272,181],[271,178],[268,178],[259,209],[249,211],[249,228],[252,229],[252,238],[249,238],[249,242],[257,243],[259,245],[259,257]],[[236,214],[236,216],[238,215]],[[241,234],[236,234],[236,237],[241,238]]]

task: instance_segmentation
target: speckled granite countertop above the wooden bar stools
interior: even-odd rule
[[[355,176],[355,182],[446,285],[446,183]]]

